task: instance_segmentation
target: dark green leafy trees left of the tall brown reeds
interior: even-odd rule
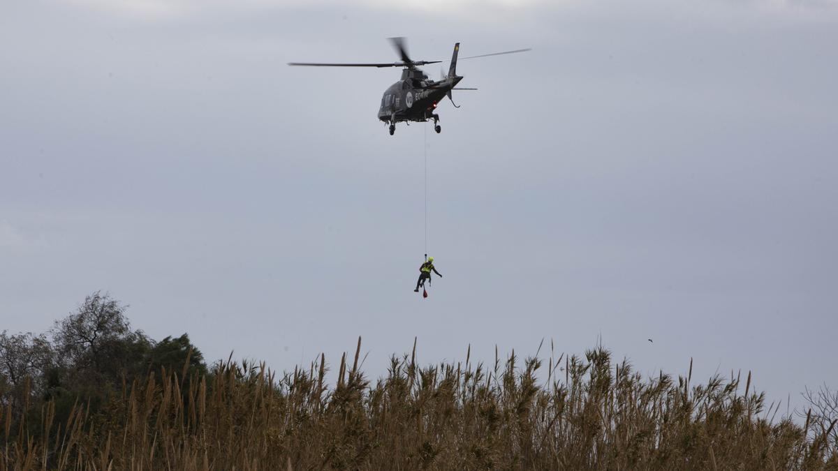
[[[124,385],[149,374],[159,379],[163,368],[206,375],[204,357],[188,335],[154,342],[131,328],[126,310],[110,295],[94,292],[56,321],[49,335],[0,334],[0,406],[8,427],[42,439],[39,422],[47,417],[66,423],[80,404],[90,417],[106,416]]]

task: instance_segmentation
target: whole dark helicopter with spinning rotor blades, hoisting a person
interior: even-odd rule
[[[451,66],[447,74],[442,70],[440,80],[431,80],[420,69],[418,65],[439,64],[442,60],[411,60],[407,54],[404,38],[390,38],[396,52],[401,56],[401,61],[392,63],[375,64],[335,64],[318,62],[289,62],[288,65],[307,65],[316,67],[404,67],[401,70],[401,80],[390,85],[381,97],[381,105],[378,110],[378,119],[385,124],[390,124],[390,135],[396,133],[397,122],[427,122],[433,120],[434,131],[442,132],[439,125],[439,115],[434,112],[439,102],[447,96],[455,108],[451,91],[453,90],[477,90],[476,88],[458,88],[463,75],[457,75],[457,55],[460,44],[454,44],[454,52],[451,56]],[[462,57],[460,60],[488,57],[490,55],[514,54],[525,52],[527,49],[515,49],[492,54],[480,54],[469,57]]]

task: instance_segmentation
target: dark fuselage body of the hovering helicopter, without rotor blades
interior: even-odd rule
[[[463,80],[463,77],[453,75],[434,81],[429,80],[422,70],[402,70],[401,80],[390,85],[384,96],[381,96],[378,119],[389,123],[426,122],[433,119],[439,101],[442,101],[460,80]]]

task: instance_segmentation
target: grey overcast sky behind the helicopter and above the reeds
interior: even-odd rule
[[[398,69],[286,65],[391,36],[533,50],[461,62],[438,135],[377,121]],[[2,3],[0,330],[102,290],[208,360],[602,339],[794,406],[838,386],[836,44],[828,0]]]

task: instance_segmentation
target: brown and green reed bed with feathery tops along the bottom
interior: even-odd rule
[[[8,405],[0,470],[838,468],[831,430],[776,417],[749,374],[644,378],[601,347],[420,367],[414,344],[373,382],[360,348],[333,385],[323,355],[282,376],[187,362],[66,417]]]

